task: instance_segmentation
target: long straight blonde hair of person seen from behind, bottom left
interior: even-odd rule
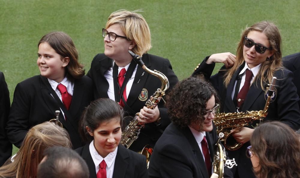
[[[36,177],[38,164],[43,159],[43,152],[52,146],[71,148],[67,131],[52,122],[44,122],[29,129],[20,150],[8,159],[0,168],[0,177],[32,178]]]

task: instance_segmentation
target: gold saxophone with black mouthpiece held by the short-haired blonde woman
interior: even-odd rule
[[[146,102],[146,107],[150,109],[154,109],[156,105],[161,101],[162,96],[165,95],[165,92],[169,88],[169,81],[168,78],[161,72],[157,70],[150,70],[148,69],[143,61],[142,58],[131,52],[130,50],[128,51],[130,55],[133,57],[133,60],[139,64],[146,72],[157,76],[161,80],[161,88],[158,88],[157,91],[150,97],[150,99]],[[125,146],[126,148],[129,148],[131,144],[137,140],[138,135],[140,134],[140,130],[143,128],[143,123],[140,123],[137,120],[137,117],[139,117],[139,113],[135,114],[133,120],[128,124],[128,126],[125,128],[125,130],[122,132],[122,137],[120,143]],[[152,155],[153,149],[149,146],[146,145],[141,154],[146,156],[147,160],[147,167],[149,166],[149,161],[150,161],[150,156]]]

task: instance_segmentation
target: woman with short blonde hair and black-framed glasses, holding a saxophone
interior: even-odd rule
[[[153,147],[170,120],[164,102],[154,109],[143,106],[161,88],[161,81],[138,66],[128,50],[142,56],[150,70],[158,70],[167,76],[170,88],[178,82],[177,76],[168,59],[147,53],[151,48],[151,35],[142,15],[127,10],[113,12],[102,29],[102,35],[104,54],[95,56],[87,74],[94,83],[95,99],[110,98],[119,102],[126,116],[140,112],[138,120],[149,124],[141,129],[138,139],[129,149],[140,151],[146,144]]]

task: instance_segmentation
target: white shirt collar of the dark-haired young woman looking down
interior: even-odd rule
[[[92,157],[95,158],[95,159],[93,159],[95,165],[99,166],[99,164],[104,159],[104,161],[106,162],[107,167],[110,167],[113,164],[114,160],[116,159],[118,147],[116,147],[115,151],[110,152],[105,158],[102,158],[102,156],[99,155],[99,153],[97,152],[97,150],[95,148],[95,145],[94,145],[94,140],[90,143],[89,148],[90,148],[91,154],[93,154]]]

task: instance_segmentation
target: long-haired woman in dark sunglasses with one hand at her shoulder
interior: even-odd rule
[[[282,67],[278,28],[270,22],[259,22],[246,28],[241,35],[236,54],[235,56],[227,52],[208,56],[193,73],[203,73],[214,85],[221,100],[220,112],[262,110],[267,97],[265,89],[275,76],[276,89],[264,120],[279,120],[298,130],[299,98],[292,83],[292,72]],[[215,63],[224,63],[224,66],[216,75],[211,76]],[[255,177],[250,159],[244,153],[250,145],[249,140],[257,123],[259,122],[235,129],[239,132],[233,134],[233,137],[244,144],[238,150],[228,150],[230,159],[234,158],[238,165],[232,168],[235,177]]]

